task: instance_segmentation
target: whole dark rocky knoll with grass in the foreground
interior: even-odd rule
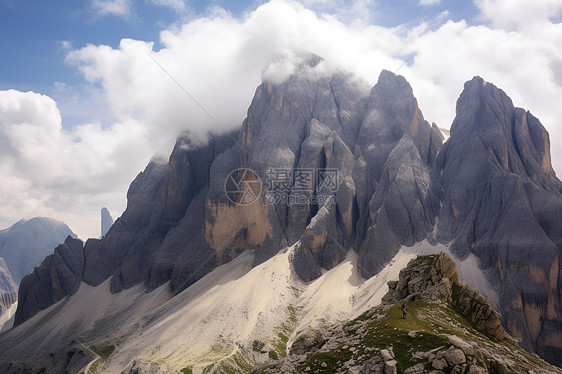
[[[403,303],[409,309],[405,319]],[[398,281],[389,282],[382,305],[344,324],[305,332],[288,357],[254,371],[278,372],[554,374],[562,369],[518,347],[489,301],[463,284],[454,261],[441,253],[410,261]]]

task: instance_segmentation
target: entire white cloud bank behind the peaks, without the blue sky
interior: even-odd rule
[[[214,8],[163,30],[159,49],[152,41],[123,39],[115,48],[86,45],[68,52],[67,63],[108,103],[110,124],[94,116],[67,131],[52,99],[5,91],[0,179],[13,188],[2,187],[2,206],[66,215],[73,227],[82,214],[88,217],[84,225],[95,222],[90,232],[98,230],[99,208],[122,209],[128,184],[155,152],[167,155],[179,132],[204,141],[208,132],[240,126],[260,81],[286,77],[302,51],[371,85],[381,69],[400,68],[426,119],[445,128],[463,83],[480,75],[503,88],[515,105],[530,109],[550,131],[553,145],[560,144],[562,108],[554,103],[562,97],[562,25],[552,21],[560,12],[558,2],[533,2],[529,7],[536,10],[526,8],[529,23],[523,8],[512,5],[516,2],[479,0],[481,24],[448,20],[445,12],[394,28],[350,21],[341,9],[315,12],[307,3],[337,6],[339,1],[274,0],[241,17]],[[372,7],[372,2],[351,6]],[[552,151],[555,169],[562,170],[562,150],[553,146]]]

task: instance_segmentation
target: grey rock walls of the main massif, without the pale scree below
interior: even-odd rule
[[[458,261],[476,256],[507,330],[560,363],[562,185],[540,122],[474,78],[443,145],[403,77],[384,71],[369,91],[350,75],[317,71],[320,63],[312,56],[284,82],[263,82],[239,133],[199,146],[180,137],[168,164],[151,162],[133,181],[105,237],[68,254],[82,256],[70,261],[81,270],[52,261],[37,269],[44,277],[26,278],[17,322],[80,281],[111,277],[113,292],[170,281],[178,293],[245,250],[259,264],[293,244],[305,281],[351,249],[369,277],[401,246],[427,239]],[[245,168],[261,180],[251,203],[225,193],[229,175],[239,170],[239,180]],[[62,283],[59,273],[68,275]]]

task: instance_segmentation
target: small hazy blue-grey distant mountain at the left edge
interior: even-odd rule
[[[63,222],[43,217],[22,219],[0,231],[0,257],[19,284],[67,236],[75,238],[76,234]]]

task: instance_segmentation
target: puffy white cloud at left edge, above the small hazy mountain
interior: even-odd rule
[[[123,187],[152,155],[143,131],[130,120],[65,131],[50,97],[0,91],[0,222],[51,216],[96,236],[94,212],[107,203],[122,208]]]

